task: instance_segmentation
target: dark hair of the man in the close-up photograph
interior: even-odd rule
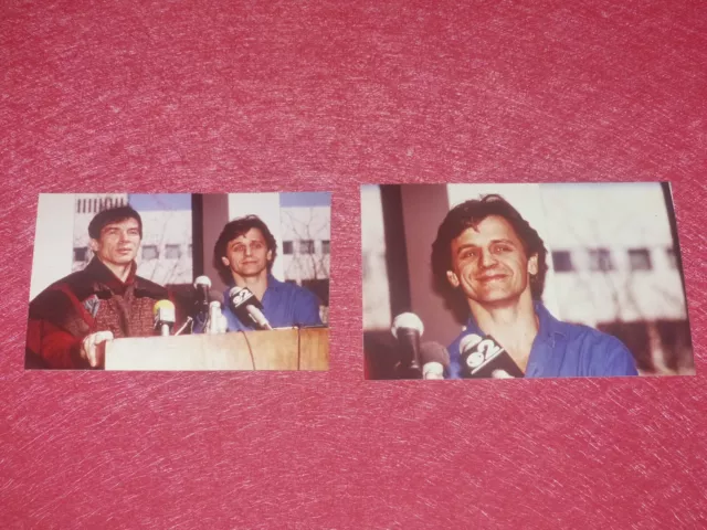
[[[523,242],[526,257],[538,255],[538,274],[530,276],[530,293],[534,300],[540,300],[545,288],[545,275],[548,271],[545,244],[520,213],[497,194],[463,202],[450,210],[442,221],[437,239],[432,243],[432,274],[436,289],[446,296],[460,293],[460,289],[450,285],[446,277],[446,272],[452,271],[452,241],[466,229],[476,229],[478,223],[489,215],[498,215],[510,223],[518,239]]]

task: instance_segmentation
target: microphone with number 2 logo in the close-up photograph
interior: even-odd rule
[[[514,379],[525,373],[503,346],[490,335],[467,335],[460,342],[463,379]]]

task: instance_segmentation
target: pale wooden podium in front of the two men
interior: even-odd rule
[[[106,342],[106,370],[328,370],[327,328]]]

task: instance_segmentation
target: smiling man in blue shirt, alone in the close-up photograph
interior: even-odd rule
[[[461,377],[460,342],[490,335],[527,378],[636,375],[616,338],[561,322],[540,301],[547,251],[538,233],[499,195],[453,208],[432,245],[435,282],[471,316],[449,347],[446,377]]]

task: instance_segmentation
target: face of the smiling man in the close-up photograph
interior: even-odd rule
[[[481,305],[517,300],[530,289],[529,274],[538,273],[538,256],[526,257],[510,223],[498,215],[482,220],[452,241],[450,284]]]

